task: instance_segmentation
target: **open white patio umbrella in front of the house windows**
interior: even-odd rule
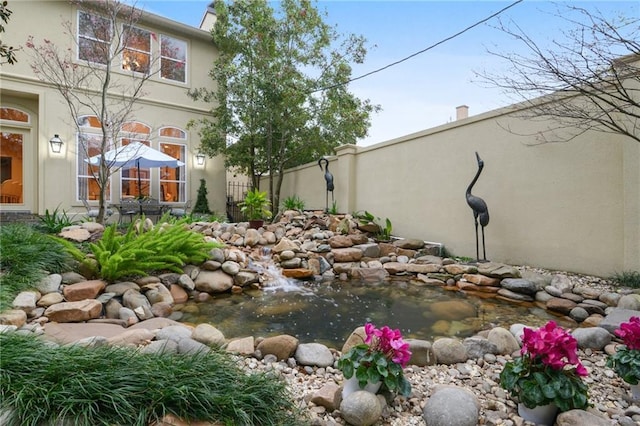
[[[102,154],[94,155],[88,158],[87,161],[92,166],[100,165],[100,157]],[[121,167],[123,169],[129,169],[137,167],[138,169],[138,195],[140,195],[140,168],[152,168],[152,167],[180,167],[184,166],[184,163],[177,160],[170,155],[160,152],[157,149],[153,149],[141,142],[131,142],[128,145],[112,149],[104,154],[104,159],[109,167]]]

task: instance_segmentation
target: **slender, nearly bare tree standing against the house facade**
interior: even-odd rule
[[[84,29],[92,32],[93,40],[87,47],[86,40],[76,38],[74,26],[69,21],[63,22],[63,33],[87,60],[76,60],[76,50],[62,49],[46,39],[36,44],[30,37],[27,49],[31,54],[33,72],[62,95],[79,134],[83,124],[78,120],[81,115],[98,117],[102,130],[98,150],[104,154],[116,147],[115,141],[126,129],[125,123],[133,121],[136,104],[145,96],[142,89],[151,77],[148,71],[153,64],[148,64],[146,71],[132,66],[130,74],[124,78],[113,73],[113,66],[120,64],[119,58],[127,50],[127,45],[137,37],[132,28],[140,17],[139,10],[117,0],[77,0],[74,3],[87,13],[89,22]],[[85,157],[90,157],[88,143],[79,145]],[[106,161],[104,155],[98,166],[89,167],[89,173],[99,188],[99,212],[96,218],[99,223],[105,220],[109,177],[118,169]]]

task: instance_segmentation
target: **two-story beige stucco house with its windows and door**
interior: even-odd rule
[[[47,40],[71,49],[78,66],[100,66],[91,52],[109,42],[108,31],[98,28],[107,28],[107,22],[98,12],[81,10],[70,1],[12,1],[9,9],[13,13],[3,41],[21,50],[16,64],[0,69],[0,209],[42,215],[59,207],[86,213],[83,200],[93,207],[98,199],[86,159],[99,153],[100,120],[86,111],[71,116],[59,91],[34,74],[26,43],[30,37],[34,43]],[[208,30],[215,15],[211,9],[203,14],[202,28],[195,28],[143,11],[127,28],[136,37],[112,63],[113,78],[148,75],[148,80],[115,146],[141,141],[184,166],[121,169],[110,178],[109,203],[141,194],[179,206],[195,201],[200,179],[205,179],[211,209],[224,212],[223,161],[197,158],[197,130],[187,128],[190,120],[207,116],[210,109],[187,95],[190,88],[212,85],[208,72],[217,48]],[[75,40],[64,33],[65,23]]]

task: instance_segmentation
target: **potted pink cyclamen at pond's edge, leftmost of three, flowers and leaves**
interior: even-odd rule
[[[338,360],[338,368],[345,379],[354,377],[360,389],[368,383],[380,383],[390,392],[404,396],[411,394],[411,384],[402,369],[411,358],[409,344],[402,340],[400,330],[389,327],[364,326],[364,343],[352,347]]]

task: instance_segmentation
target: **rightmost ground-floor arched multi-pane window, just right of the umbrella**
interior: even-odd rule
[[[160,151],[186,164],[187,134],[175,127],[160,129]],[[180,139],[182,143],[180,143]],[[171,141],[170,141],[171,140]],[[187,194],[186,166],[160,168],[160,199],[168,203],[184,203]]]

